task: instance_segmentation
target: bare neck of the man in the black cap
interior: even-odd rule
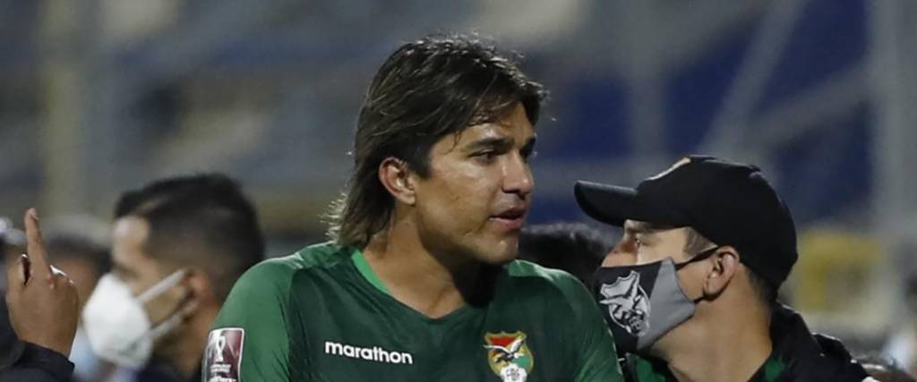
[[[679,328],[679,338],[667,341],[666,349],[660,352],[672,375],[680,382],[734,382],[753,377],[771,354],[769,321],[707,313],[710,321]]]

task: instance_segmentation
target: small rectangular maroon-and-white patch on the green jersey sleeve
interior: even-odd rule
[[[211,331],[204,351],[204,381],[240,382],[244,342],[245,329],[223,328]]]

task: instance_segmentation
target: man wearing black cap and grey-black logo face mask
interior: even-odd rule
[[[624,227],[592,288],[630,380],[869,380],[776,301],[796,229],[756,167],[682,158],[636,189],[580,181],[575,193],[592,218]]]

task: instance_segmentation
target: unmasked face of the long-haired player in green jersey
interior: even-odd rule
[[[517,105],[495,123],[445,136],[417,178],[416,213],[425,246],[490,264],[515,258],[535,186],[528,158],[535,130]]]

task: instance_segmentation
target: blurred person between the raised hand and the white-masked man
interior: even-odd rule
[[[51,261],[73,280],[82,311],[96,282],[110,270],[110,228],[92,216],[72,215],[45,219],[43,233]],[[77,382],[100,381],[113,371],[111,364],[93,352],[82,323],[73,340],[70,359],[75,365],[73,380]]]

